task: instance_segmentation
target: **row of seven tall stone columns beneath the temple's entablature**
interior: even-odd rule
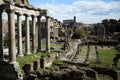
[[[14,10],[7,10],[8,13],[8,31],[9,31],[9,63],[13,64],[16,62],[16,39],[15,39],[15,14],[17,14],[17,27],[18,27],[18,56],[22,57],[22,14],[15,13]],[[38,16],[38,51],[41,51],[41,26],[40,18]],[[26,23],[26,54],[31,54],[30,50],[30,25],[29,15],[25,15]],[[46,17],[47,24],[47,35],[46,35],[46,50],[50,51],[50,29],[49,29],[49,17]],[[36,17],[32,16],[32,52],[35,53],[37,50],[36,45]],[[3,37],[2,37],[2,10],[0,10],[0,60],[4,60],[3,56]]]

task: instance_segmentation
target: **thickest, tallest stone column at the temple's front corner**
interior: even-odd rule
[[[15,44],[15,13],[14,10],[8,11],[8,30],[9,30],[9,63],[16,63],[16,44]]]

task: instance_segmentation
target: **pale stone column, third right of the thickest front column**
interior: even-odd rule
[[[32,52],[36,52],[36,20],[35,16],[32,16]]]

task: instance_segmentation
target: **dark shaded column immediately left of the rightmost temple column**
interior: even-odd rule
[[[41,51],[41,39],[42,39],[42,35],[41,35],[41,26],[40,26],[40,19],[41,19],[41,16],[38,16],[37,17],[38,19],[38,51]]]

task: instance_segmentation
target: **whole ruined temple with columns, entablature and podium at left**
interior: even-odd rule
[[[2,35],[2,19],[3,12],[7,13],[8,17],[8,36],[9,36],[9,59],[5,61],[4,59],[4,43],[3,43],[3,35]],[[17,16],[17,40],[18,44],[16,46],[16,32],[15,32],[15,16]],[[15,69],[17,72],[18,80],[22,80],[23,76],[19,69],[19,65],[16,62],[16,56],[22,57],[24,56],[22,52],[22,17],[25,17],[25,55],[29,55],[35,52],[41,51],[41,39],[42,39],[42,22],[41,17],[44,16],[46,18],[46,51],[50,52],[50,36],[52,34],[52,27],[54,26],[52,17],[47,16],[47,10],[35,8],[29,4],[28,0],[2,0],[0,4],[0,62],[5,65],[13,66],[9,68]],[[30,18],[32,19],[32,27],[30,27]],[[56,20],[57,21],[57,20]],[[58,21],[57,21],[58,22]],[[36,24],[37,23],[37,24]],[[59,23],[59,22],[58,22]],[[36,25],[38,26],[36,29]],[[32,29],[32,47],[30,47],[30,28]],[[58,29],[58,27],[55,27]],[[58,30],[56,29],[56,33],[54,36],[58,36]],[[57,35],[55,35],[57,34]],[[36,36],[37,35],[37,36]],[[18,48],[18,52],[16,54],[16,47]],[[1,66],[1,65],[0,65]],[[0,72],[0,78],[5,77],[9,72],[7,72],[8,66],[2,65],[4,67]],[[0,67],[0,68],[1,68]],[[5,70],[6,69],[6,70]],[[2,74],[2,75],[1,75]],[[5,74],[5,75],[4,75]],[[6,77],[10,77],[6,76]]]

